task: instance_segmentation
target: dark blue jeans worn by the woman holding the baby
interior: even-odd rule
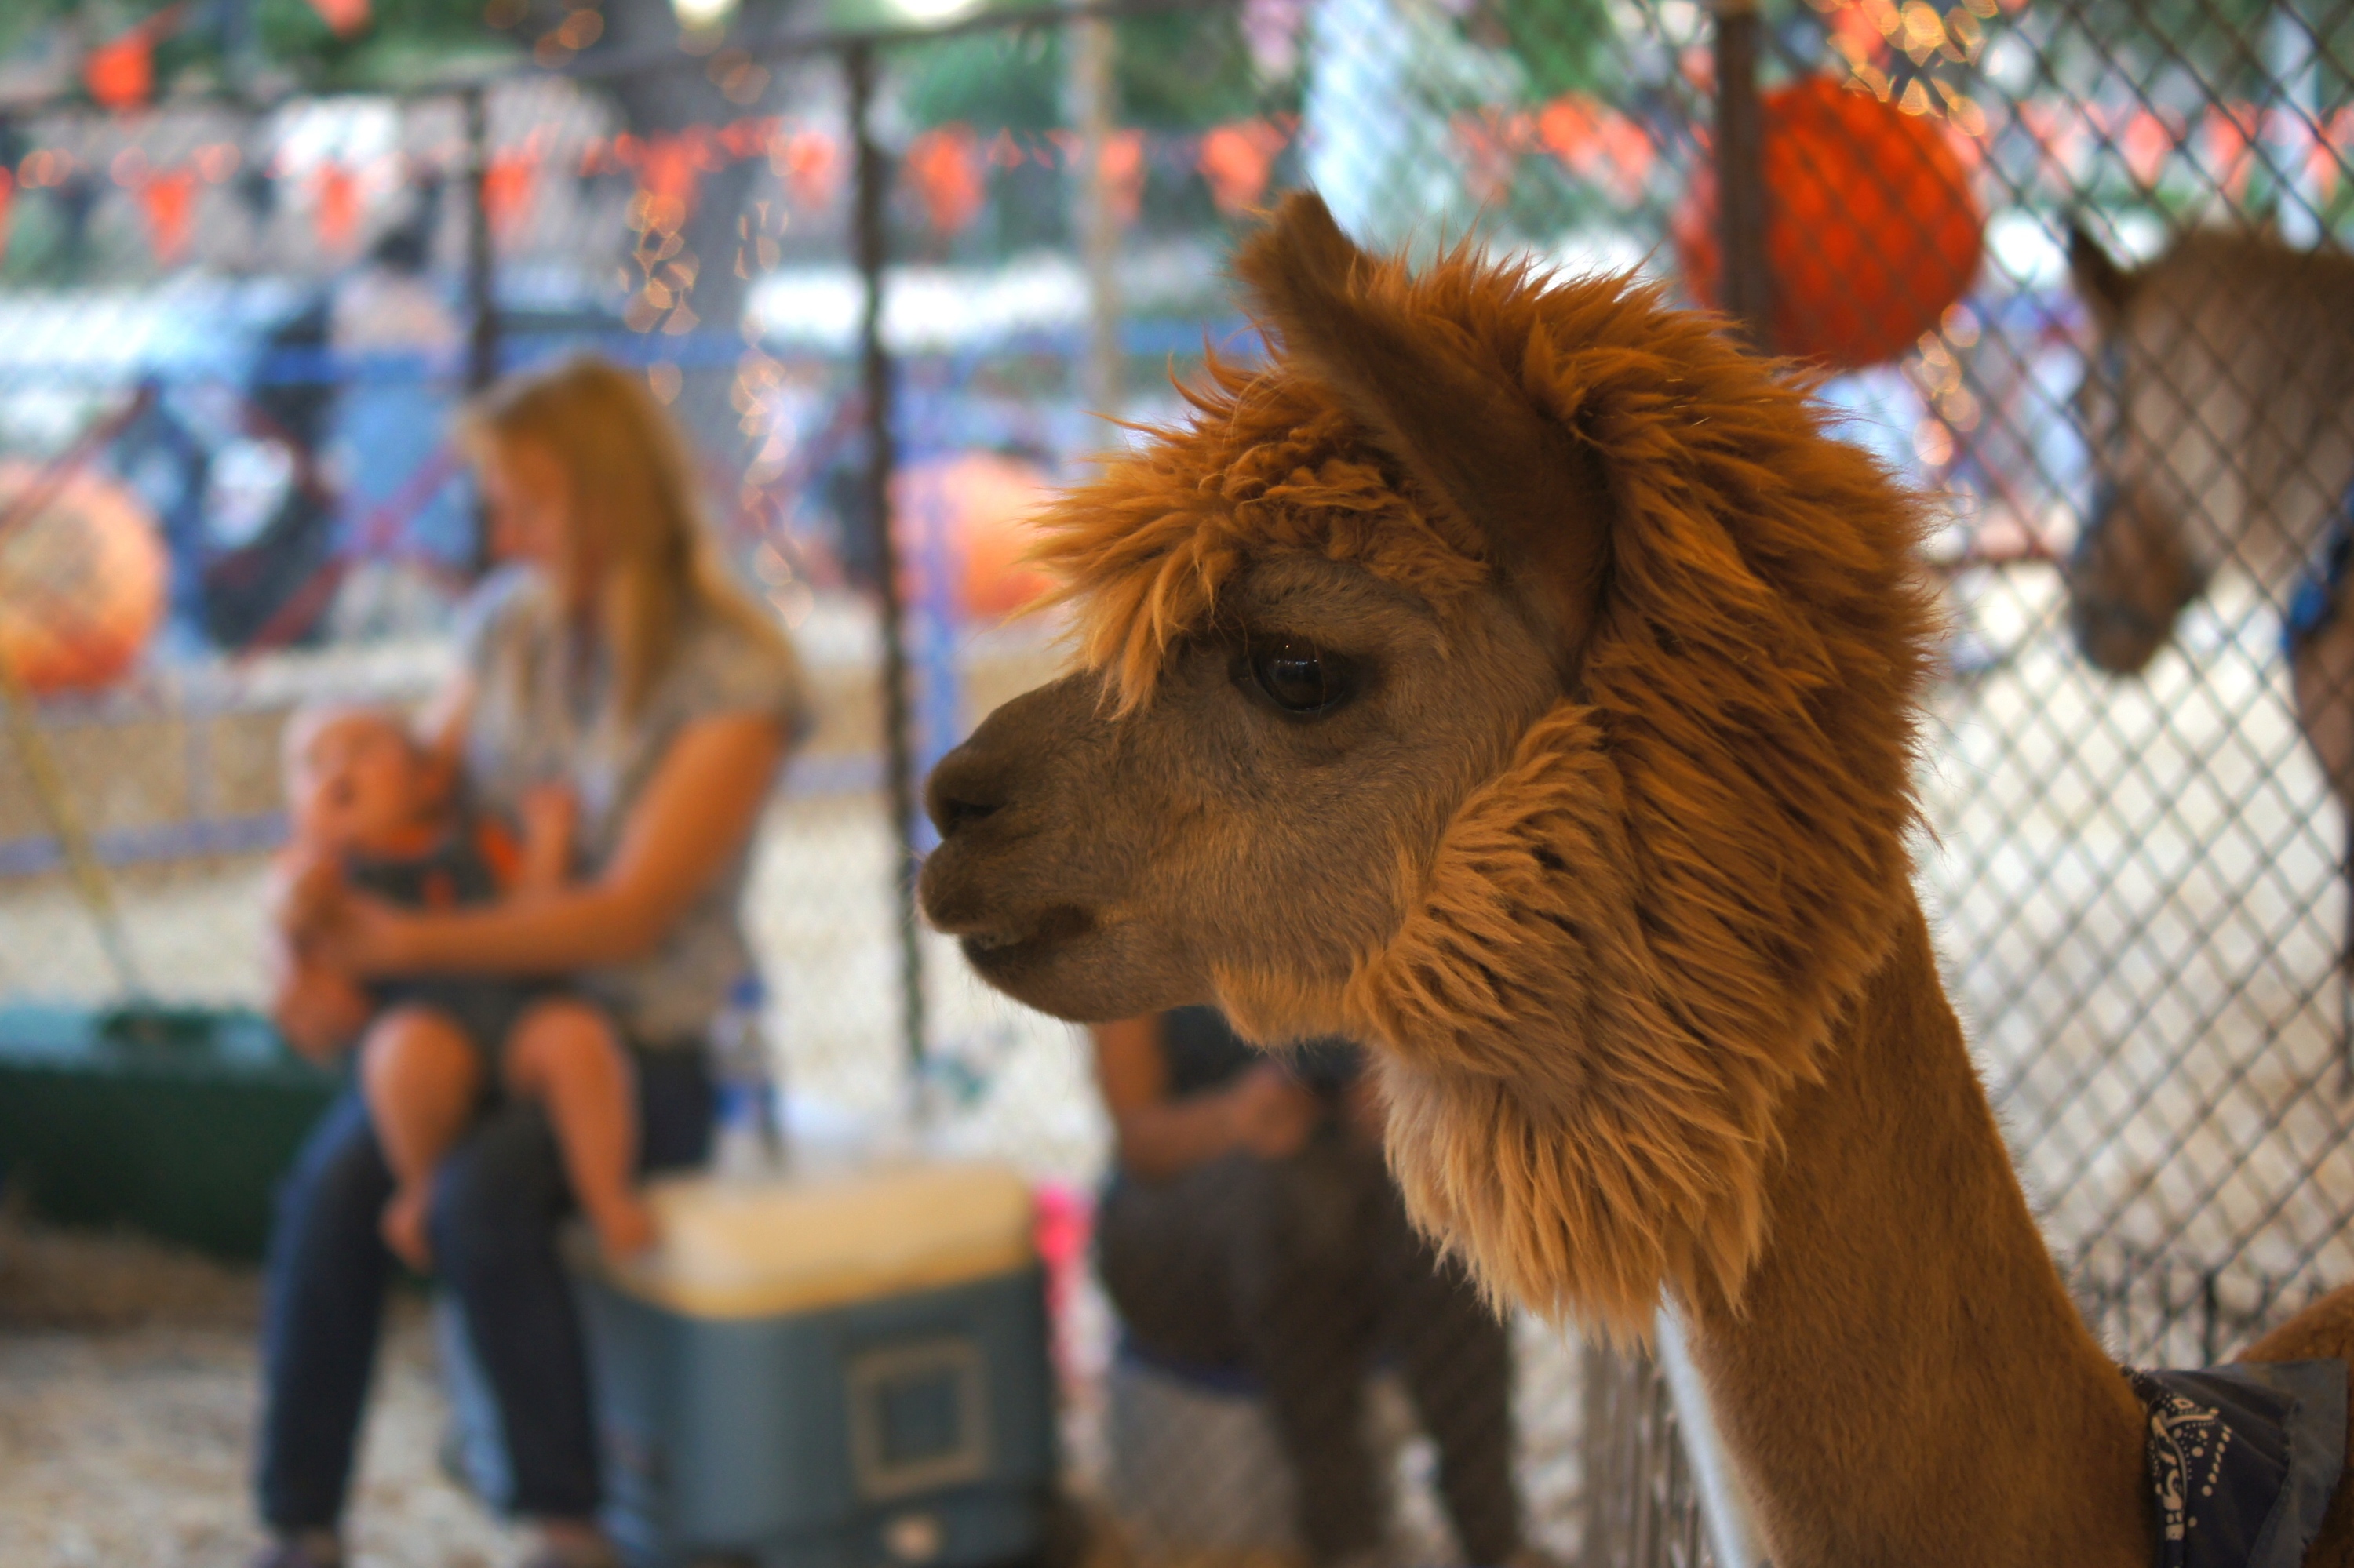
[[[701,1050],[636,1052],[638,1161],[690,1165],[711,1144]],[[379,1222],[393,1172],[358,1088],[320,1118],[278,1189],[261,1318],[261,1519],[332,1530],[377,1361],[393,1276]],[[428,1220],[433,1262],[499,1401],[513,1507],[532,1519],[598,1509],[588,1361],[556,1227],[572,1210],[556,1130],[534,1102],[490,1109],[450,1151]]]

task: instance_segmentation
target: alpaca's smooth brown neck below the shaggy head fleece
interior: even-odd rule
[[[1775,1568],[2142,1568],[2142,1413],[2027,1212],[1919,909],[1782,1116],[1693,1351]]]

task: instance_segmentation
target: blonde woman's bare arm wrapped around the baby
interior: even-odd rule
[[[751,838],[784,746],[784,725],[765,716],[692,723],[593,881],[433,913],[346,890],[311,942],[351,975],[553,975],[643,958]]]

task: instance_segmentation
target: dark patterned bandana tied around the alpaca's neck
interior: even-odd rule
[[[2345,1464],[2347,1363],[2126,1377],[2149,1408],[2159,1568],[2302,1568]]]

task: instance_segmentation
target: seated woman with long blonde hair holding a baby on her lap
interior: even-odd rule
[[[596,360],[494,388],[468,417],[497,553],[464,673],[426,742],[492,812],[560,784],[572,881],[452,911],[348,888],[285,916],[322,984],[287,984],[280,1024],[332,1052],[339,998],[381,975],[563,975],[629,1043],[643,1168],[692,1163],[711,1128],[701,1041],[751,970],[737,902],[751,836],[805,725],[779,629],[713,560],[683,443],[638,377]],[[271,1568],[341,1561],[341,1514],[393,1257],[377,1215],[393,1172],[348,1095],[311,1135],[278,1208],[264,1323],[259,1502]],[[556,1257],[572,1208],[544,1109],[494,1102],[447,1154],[431,1255],[492,1391],[516,1514],[537,1563],[617,1561],[598,1533],[598,1460],[579,1323]]]

